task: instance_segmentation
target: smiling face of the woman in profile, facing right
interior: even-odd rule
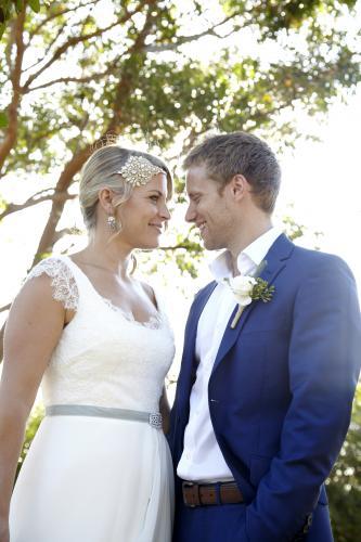
[[[167,177],[157,173],[145,185],[134,188],[127,202],[116,208],[121,223],[119,238],[131,248],[156,248],[170,215],[167,208]]]

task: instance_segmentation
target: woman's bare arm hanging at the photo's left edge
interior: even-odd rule
[[[0,542],[9,541],[9,505],[25,424],[65,317],[46,275],[27,282],[10,310],[0,383]]]

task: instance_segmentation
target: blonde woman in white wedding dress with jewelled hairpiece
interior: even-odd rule
[[[116,144],[95,151],[79,192],[88,246],[42,260],[14,300],[0,388],[0,542],[171,539],[162,426],[173,337],[160,300],[132,274],[132,250],[158,246],[170,195],[158,158]],[[40,382],[46,417],[11,498]]]

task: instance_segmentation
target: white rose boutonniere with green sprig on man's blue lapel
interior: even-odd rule
[[[242,312],[252,301],[260,299],[266,304],[272,299],[274,292],[274,286],[269,286],[268,282],[259,276],[256,279],[250,275],[237,275],[233,279],[225,279],[225,282],[238,304],[238,309],[231,323],[232,330],[237,325]]]

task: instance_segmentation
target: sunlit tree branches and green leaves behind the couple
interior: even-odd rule
[[[52,250],[76,245],[78,173],[109,137],[146,141],[162,154],[175,172],[178,205],[180,157],[209,130],[252,130],[280,153],[312,138],[300,133],[299,112],[321,119],[360,81],[356,7],[356,0],[0,0],[0,233],[30,209],[41,222],[40,234],[30,224],[24,274]],[[305,233],[292,216],[284,227],[298,238]],[[198,237],[178,223],[168,240],[140,259],[147,272],[167,268],[184,279],[186,297],[186,279],[196,283],[202,273]],[[40,416],[30,418],[23,454]],[[359,391],[330,477],[339,542],[361,532],[360,456]]]

